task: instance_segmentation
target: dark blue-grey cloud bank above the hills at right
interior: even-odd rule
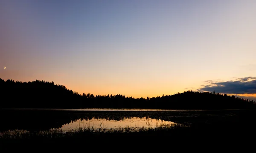
[[[205,81],[208,85],[199,88],[198,91],[209,91],[225,94],[256,94],[256,77],[238,78],[236,81],[214,82]]]

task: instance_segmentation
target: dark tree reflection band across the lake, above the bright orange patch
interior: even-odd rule
[[[250,113],[250,110],[244,111]],[[230,114],[233,113],[233,116]],[[146,119],[161,119],[164,121],[190,124],[223,120],[237,117],[241,111],[0,111],[0,131],[6,130],[49,130],[60,128],[62,125],[76,120],[107,119],[120,121],[133,117]],[[253,113],[252,113],[253,114]],[[209,117],[210,116],[210,117]],[[255,116],[251,116],[255,117]],[[246,118],[249,120],[250,118]],[[245,120],[245,119],[244,119]],[[236,121],[236,120],[233,120]],[[239,120],[238,120],[239,121]],[[148,123],[150,124],[150,123]]]

